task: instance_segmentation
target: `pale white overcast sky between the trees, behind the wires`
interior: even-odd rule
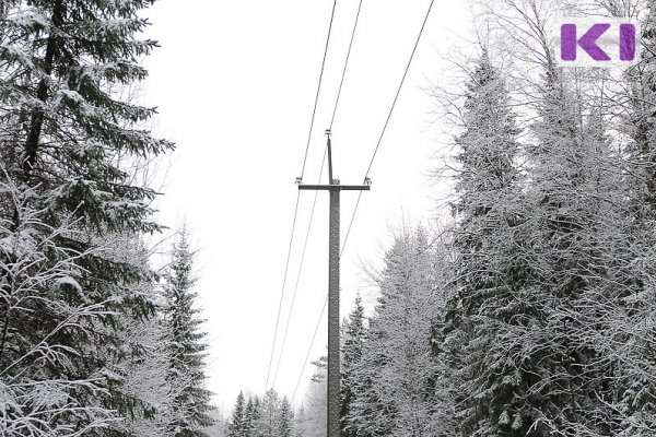
[[[358,0],[338,0],[304,182],[316,184]],[[364,0],[332,126],[333,173],[361,184],[430,0]],[[161,48],[145,61],[145,104],[154,132],[177,144],[161,163],[161,223],[183,222],[197,249],[199,306],[210,343],[208,387],[227,413],[239,390],[261,394],[273,341],[330,0],[160,0],[145,12],[147,36]],[[361,294],[371,311],[378,268],[393,229],[431,223],[445,187],[430,170],[445,146],[426,93],[441,83],[445,57],[469,35],[468,1],[435,1],[410,72],[370,173],[341,259],[342,316]],[[323,184],[327,182],[324,176]],[[301,196],[269,387],[294,403],[313,374],[305,362],[328,287],[328,194]],[[358,198],[341,196],[342,241]],[[301,253],[308,235],[303,269]],[[298,277],[298,286],[295,287]],[[296,297],[285,349],[280,343]],[[324,316],[311,359],[326,353]],[[281,359],[279,362],[279,356]],[[280,363],[278,365],[278,363]],[[274,385],[273,375],[278,373]]]

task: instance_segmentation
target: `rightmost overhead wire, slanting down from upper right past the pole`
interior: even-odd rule
[[[403,83],[406,82],[406,76],[408,75],[408,71],[410,70],[410,66],[412,63],[412,59],[414,58],[414,54],[417,51],[417,47],[419,46],[419,42],[421,39],[421,36],[423,34],[423,31],[424,31],[424,27],[426,25],[426,22],[429,20],[430,14],[431,14],[431,10],[433,9],[434,1],[435,0],[431,0],[431,2],[429,3],[429,9],[427,9],[427,11],[425,13],[425,16],[424,16],[424,20],[423,20],[423,22],[421,24],[421,28],[419,29],[419,34],[418,34],[417,39],[414,42],[414,46],[412,47],[412,51],[410,54],[410,58],[408,59],[408,63],[406,66],[406,70],[403,71],[403,75],[401,78],[401,81],[400,81],[399,86],[397,88],[396,95],[395,95],[394,101],[391,103],[391,107],[389,108],[389,113],[387,114],[387,118],[385,119],[385,125],[383,126],[383,130],[380,131],[380,135],[378,137],[378,142],[376,143],[376,147],[374,149],[374,153],[372,155],[372,158],[370,161],[368,167],[366,169],[366,173],[365,173],[365,176],[364,176],[364,182],[367,181],[368,174],[370,174],[370,172],[372,169],[372,166],[374,164],[374,160],[376,158],[376,155],[378,153],[378,149],[380,147],[380,143],[383,142],[383,137],[385,137],[385,132],[387,130],[387,126],[389,125],[389,120],[391,119],[391,114],[394,111],[396,103],[397,103],[397,101],[399,98],[399,95],[401,93],[401,88],[403,87]],[[360,7],[361,5],[362,5],[362,2],[360,4]],[[360,13],[360,9],[359,9],[359,13]],[[350,47],[349,47],[349,52],[350,52]],[[347,59],[348,59],[348,57],[347,57]],[[344,71],[345,71],[345,69],[344,69]],[[333,119],[335,119],[335,113],[333,113]],[[351,215],[351,220],[349,222],[349,227],[347,229],[347,234],[345,234],[345,237],[344,237],[344,243],[343,243],[342,248],[340,250],[340,259],[341,259],[341,257],[343,255],[347,241],[349,240],[349,235],[351,234],[351,227],[353,226],[353,221],[355,220],[355,214],[358,213],[358,206],[360,205],[360,199],[361,198],[362,198],[362,191],[360,191],[360,194],[358,196],[358,200],[355,202],[355,208],[353,209],[353,214]],[[319,318],[317,320],[317,324],[315,327],[315,330],[314,330],[314,333],[313,333],[313,336],[312,336],[312,341],[311,341],[309,347],[307,350],[307,354],[306,354],[305,359],[303,362],[303,367],[301,368],[301,374],[298,375],[298,379],[296,380],[296,386],[294,388],[294,391],[293,391],[293,394],[292,394],[292,398],[291,398],[291,402],[293,402],[293,400],[294,400],[294,398],[296,395],[296,391],[298,390],[298,386],[301,385],[301,380],[303,379],[303,374],[305,371],[305,366],[307,364],[307,361],[309,359],[309,354],[312,353],[312,347],[314,346],[314,342],[316,340],[317,332],[319,330],[319,326],[321,323],[321,319],[324,317],[324,312],[326,311],[326,306],[327,305],[328,305],[328,295],[326,295],[326,300],[324,302],[324,306],[321,308],[321,312],[319,314]]]

